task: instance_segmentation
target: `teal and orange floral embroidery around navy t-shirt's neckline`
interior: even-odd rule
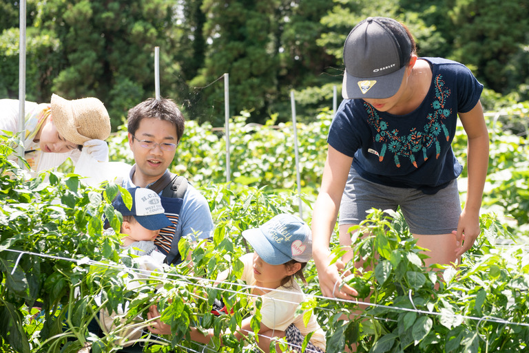
[[[450,139],[444,120],[452,114],[452,109],[445,107],[450,89],[444,85],[442,75],[435,76],[434,85],[435,100],[431,104],[432,112],[426,116],[426,124],[422,129],[414,127],[406,135],[401,134],[398,129],[391,129],[372,105],[364,103],[368,114],[367,122],[377,131],[374,140],[382,143],[378,158],[380,162],[384,160],[386,153],[391,153],[397,167],[400,168],[402,158],[408,158],[417,168],[417,158],[428,160],[426,151],[433,148],[435,148],[435,158],[439,158],[441,147],[438,139],[446,138],[447,141]]]

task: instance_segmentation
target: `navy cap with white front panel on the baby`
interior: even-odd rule
[[[165,210],[162,206],[160,196],[151,189],[146,188],[130,188],[127,191],[132,196],[132,207],[129,209],[123,202],[121,194],[112,202],[112,206],[116,208],[121,215],[132,215],[141,226],[149,229],[149,231],[156,231],[161,228],[172,226],[172,222],[164,214]]]

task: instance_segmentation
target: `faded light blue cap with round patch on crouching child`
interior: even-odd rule
[[[276,215],[259,228],[243,231],[242,236],[267,264],[309,262],[312,257],[311,228],[295,215]]]

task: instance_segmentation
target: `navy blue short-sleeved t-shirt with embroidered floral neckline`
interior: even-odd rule
[[[477,105],[483,85],[460,63],[422,59],[430,63],[433,76],[417,109],[398,116],[362,99],[343,100],[327,142],[353,157],[352,167],[364,179],[436,193],[461,174],[451,147],[457,113]]]

